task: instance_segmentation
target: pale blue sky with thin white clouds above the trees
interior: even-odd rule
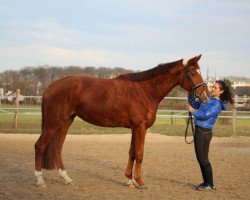
[[[0,0],[0,72],[143,71],[199,54],[203,76],[250,77],[249,0]]]

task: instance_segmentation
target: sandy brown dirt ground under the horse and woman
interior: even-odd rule
[[[147,190],[125,186],[130,135],[67,135],[63,160],[74,185],[43,171],[36,187],[34,143],[39,135],[0,134],[0,199],[250,199],[250,138],[213,138],[210,161],[216,191],[196,191],[201,173],[183,137],[147,134]]]

